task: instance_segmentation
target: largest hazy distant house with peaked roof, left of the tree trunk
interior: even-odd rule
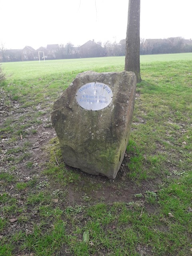
[[[89,40],[79,47],[79,54],[82,58],[102,57],[104,56],[104,49],[102,46],[94,42],[94,40]]]

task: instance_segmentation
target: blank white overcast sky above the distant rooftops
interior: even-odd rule
[[[128,0],[0,0],[6,48],[126,38]],[[141,0],[140,37],[192,38],[192,0]]]

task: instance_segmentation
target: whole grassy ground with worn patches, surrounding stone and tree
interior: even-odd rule
[[[0,256],[192,254],[192,53],[141,56],[114,181],[66,166],[49,117],[79,72],[122,71],[124,57],[3,67]]]

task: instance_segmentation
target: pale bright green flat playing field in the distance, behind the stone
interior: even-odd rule
[[[157,61],[192,60],[192,53],[141,55],[141,64]],[[8,74],[14,79],[31,79],[38,76],[57,75],[60,72],[95,70],[100,67],[119,70],[124,66],[125,57],[85,58],[70,60],[41,60],[3,63]]]

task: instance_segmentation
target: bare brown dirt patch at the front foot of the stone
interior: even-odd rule
[[[126,161],[126,158],[124,158],[123,163],[125,164]],[[156,205],[148,204],[145,201],[145,193],[146,191],[156,191],[156,185],[162,185],[162,181],[159,178],[156,180],[143,180],[139,184],[136,184],[136,182],[125,178],[126,172],[129,171],[128,168],[125,168],[125,165],[119,170],[115,180],[86,174],[70,166],[66,166],[66,168],[80,174],[78,184],[67,185],[66,190],[68,193],[66,200],[68,205],[85,205],[97,202],[104,202],[106,204],[113,204],[114,202],[133,202],[145,206],[149,214],[157,211]],[[138,198],[136,196],[137,194],[142,194],[142,197]],[[85,197],[87,200],[85,200]]]

